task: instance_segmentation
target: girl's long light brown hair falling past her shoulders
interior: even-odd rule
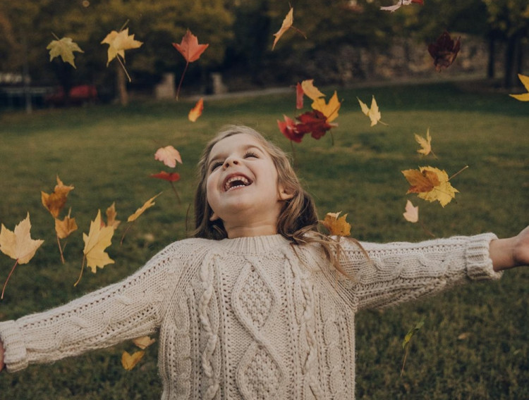
[[[259,132],[243,125],[228,125],[224,127],[209,141],[202,152],[197,171],[198,183],[195,191],[195,231],[193,236],[216,240],[228,237],[220,219],[209,220],[212,215],[212,208],[207,203],[207,165],[209,163],[209,153],[213,146],[226,137],[238,134],[251,135],[262,144],[276,167],[278,185],[282,185],[289,194],[293,194],[291,199],[285,201],[284,207],[279,213],[276,225],[277,233],[288,239],[292,244],[320,243],[329,261],[332,262],[336,269],[344,273],[339,265],[339,242],[319,232],[319,220],[315,202],[312,196],[305,192],[305,189],[301,186],[288,155],[278,146],[265,139]]]

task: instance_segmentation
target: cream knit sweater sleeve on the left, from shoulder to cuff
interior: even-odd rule
[[[154,332],[166,289],[176,282],[180,269],[172,246],[121,282],[49,311],[0,323],[7,370],[50,363]]]

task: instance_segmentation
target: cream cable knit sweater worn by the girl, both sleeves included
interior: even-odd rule
[[[159,330],[162,399],[353,399],[355,313],[495,279],[494,235],[342,240],[354,280],[280,235],[186,239],[126,280],[0,323],[9,371]]]

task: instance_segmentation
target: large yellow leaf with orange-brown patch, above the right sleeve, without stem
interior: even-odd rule
[[[444,207],[458,193],[458,190],[450,184],[448,174],[444,170],[420,167],[419,170],[403,170],[401,172],[410,184],[408,193],[417,193],[420,199],[430,202],[437,200]]]

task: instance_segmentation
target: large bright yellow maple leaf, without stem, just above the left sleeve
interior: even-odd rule
[[[101,224],[101,211],[97,211],[95,220],[90,222],[88,235],[83,233],[85,242],[85,254],[87,266],[92,268],[92,273],[96,273],[97,267],[103,268],[107,264],[113,264],[114,260],[109,257],[104,250],[111,245],[114,227],[104,227]]]

